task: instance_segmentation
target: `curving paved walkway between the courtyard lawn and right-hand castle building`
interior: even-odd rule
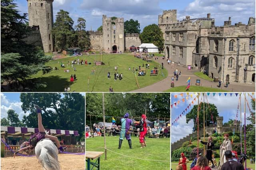
[[[218,82],[210,82],[208,80],[204,80],[196,75],[194,75],[194,72],[198,72],[198,70],[188,70],[184,66],[179,66],[178,64],[174,64],[174,69],[172,69],[171,65],[167,64],[166,59],[162,59],[162,57],[158,57],[157,60],[158,63],[164,62],[164,68],[168,70],[168,76],[164,80],[161,80],[160,82],[156,82],[150,86],[146,86],[144,88],[140,88],[137,90],[134,90],[132,92],[163,92],[165,90],[170,89],[171,84],[171,78],[173,76],[174,70],[178,69],[178,71],[181,71],[181,76],[179,76],[178,81],[176,81],[174,78],[174,87],[177,86],[187,86],[188,83],[186,82],[188,80],[188,77],[190,76],[190,86],[195,86],[196,79],[200,79],[200,86],[206,86],[210,88],[218,88]],[[159,74],[158,76],[161,76]],[[230,92],[254,92],[255,91],[255,83],[253,84],[244,84],[244,83],[230,83],[228,85],[228,88],[224,87],[226,86],[226,83],[222,83],[221,87],[218,89],[228,90]],[[184,89],[184,92],[186,89]]]

